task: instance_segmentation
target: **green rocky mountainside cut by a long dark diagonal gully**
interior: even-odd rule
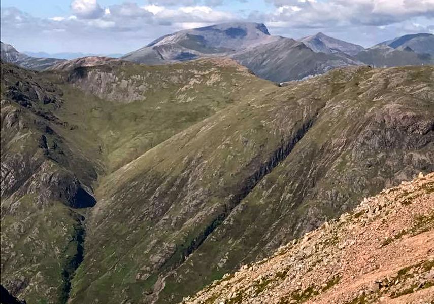
[[[432,73],[269,84],[114,171],[96,191],[71,302],[173,303],[433,171]]]

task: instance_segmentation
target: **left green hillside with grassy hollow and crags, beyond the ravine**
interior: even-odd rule
[[[1,64],[1,283],[28,303],[68,299],[98,176],[268,84],[227,60],[73,63]]]

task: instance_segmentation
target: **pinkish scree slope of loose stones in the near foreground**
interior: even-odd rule
[[[434,173],[364,198],[183,304],[432,303]]]

